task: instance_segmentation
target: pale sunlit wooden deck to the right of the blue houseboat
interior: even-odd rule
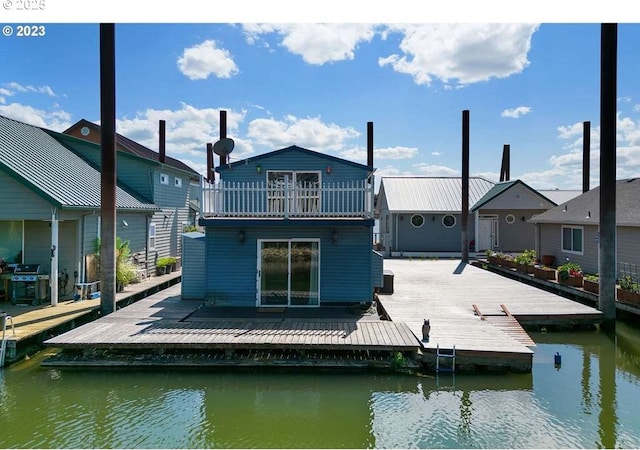
[[[422,342],[430,358],[436,347],[455,346],[460,364],[466,358],[469,364],[530,370],[532,345],[527,345],[526,333],[507,318],[501,305],[527,324],[601,320],[594,308],[457,259],[386,259],[384,265],[394,273],[394,292],[379,296],[381,306],[392,321],[406,323],[416,336],[422,336],[423,319],[430,320],[429,341]]]

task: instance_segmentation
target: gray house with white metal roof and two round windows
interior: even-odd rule
[[[469,178],[469,205],[494,186]],[[475,251],[476,224],[469,211],[468,239]],[[460,253],[462,177],[383,177],[376,203],[379,245],[385,256]]]

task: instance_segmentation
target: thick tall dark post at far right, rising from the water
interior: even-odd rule
[[[600,49],[600,295],[602,326],[616,319],[616,91],[617,24],[601,25]]]

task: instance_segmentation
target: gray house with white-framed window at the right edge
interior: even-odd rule
[[[556,264],[570,260],[586,273],[598,272],[600,188],[591,189],[530,219],[536,227],[538,255]],[[640,179],[616,182],[617,271],[640,267]]]

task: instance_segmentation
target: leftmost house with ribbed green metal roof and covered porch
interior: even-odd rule
[[[59,294],[72,294],[74,281],[87,279],[86,257],[94,253],[100,233],[100,172],[70,151],[72,145],[0,116],[0,257],[40,265],[50,276],[52,304]],[[146,248],[148,220],[158,210],[118,185],[117,236],[129,241],[133,252]],[[59,291],[64,273],[69,280]]]

